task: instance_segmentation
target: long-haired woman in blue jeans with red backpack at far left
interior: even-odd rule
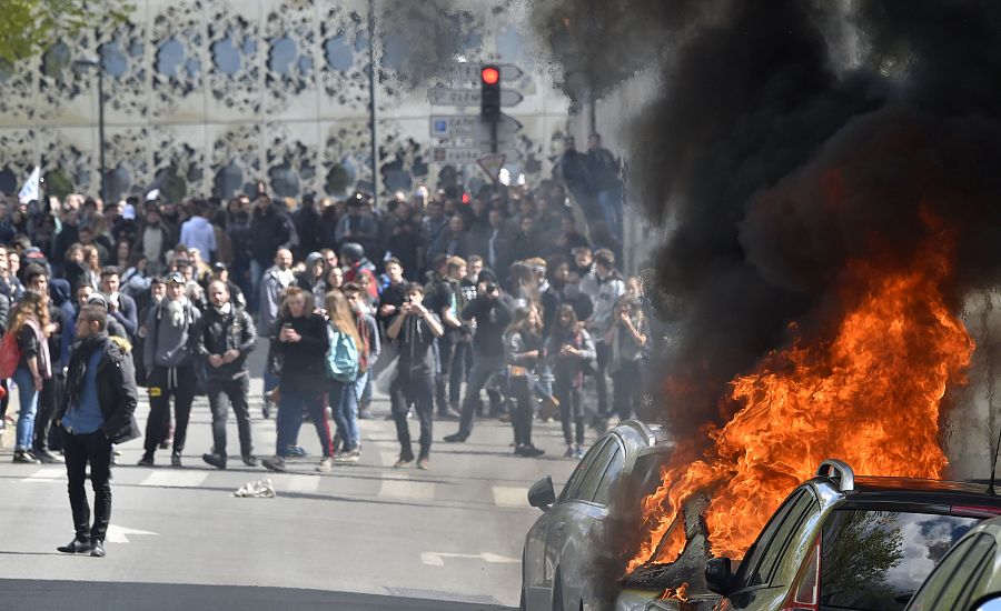
[[[0,377],[13,378],[20,401],[14,462],[29,464],[40,462],[32,450],[32,441],[38,395],[44,381],[52,377],[48,341],[49,322],[48,297],[26,291],[13,311],[8,337],[2,344],[4,355],[2,369],[8,371],[0,372]],[[17,363],[16,368],[11,367],[12,362]],[[10,369],[13,369],[12,374]]]

